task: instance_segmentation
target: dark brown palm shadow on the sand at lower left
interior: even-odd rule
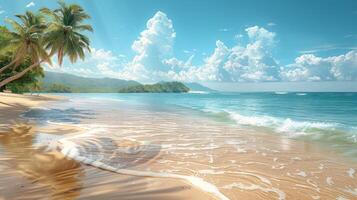
[[[81,165],[59,152],[34,147],[34,137],[32,127],[24,124],[0,133],[0,146],[4,149],[0,156],[6,158],[2,164],[42,186],[31,187],[26,192],[29,197],[38,190],[50,189],[51,199],[75,199],[80,194],[80,177],[84,175]],[[2,173],[6,177],[7,172]]]

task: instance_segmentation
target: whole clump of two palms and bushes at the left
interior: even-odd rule
[[[90,51],[89,38],[82,34],[93,31],[90,25],[83,24],[90,16],[77,4],[58,3],[58,9],[26,11],[24,15],[15,15],[17,20],[6,19],[12,26],[11,32],[0,27],[0,54],[10,53],[12,57],[10,62],[6,58],[0,65],[0,90],[5,85],[15,92],[38,89],[37,77],[43,76],[38,67],[41,63],[51,64],[55,54],[60,65],[64,56],[73,63],[84,59],[85,50]]]

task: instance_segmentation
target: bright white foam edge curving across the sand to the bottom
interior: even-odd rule
[[[97,143],[95,145],[92,145],[90,142],[91,140],[95,140]],[[223,193],[221,193],[214,184],[211,184],[199,177],[165,173],[165,172],[131,170],[125,168],[126,166],[123,163],[113,163],[112,162],[113,159],[107,159],[107,157],[101,153],[101,151],[103,151],[101,150],[101,148],[103,148],[104,146],[106,148],[105,151],[108,151],[108,148],[110,149],[110,145],[108,145],[108,141],[111,140],[112,139],[109,137],[106,139],[101,137],[99,140],[98,139],[96,140],[93,138],[92,133],[89,132],[89,133],[83,133],[80,135],[60,139],[58,140],[58,144],[60,146],[61,153],[78,162],[82,162],[88,165],[92,165],[94,167],[98,167],[104,170],[108,170],[120,174],[142,176],[142,177],[180,179],[185,182],[188,182],[189,184],[199,188],[204,192],[207,192],[217,197],[218,199],[228,200],[228,198]],[[101,141],[106,141],[106,144],[100,144]],[[97,148],[97,149],[94,150],[93,148]],[[112,150],[117,151],[114,150],[116,148],[118,147],[113,146]],[[88,152],[87,150],[92,150],[92,151]],[[150,152],[152,151],[152,149],[144,149],[142,151]],[[93,152],[97,152],[97,153],[93,154]],[[137,152],[138,151],[134,152],[133,155],[135,157],[141,157],[141,156],[137,156]],[[130,154],[131,152],[121,151],[121,153]]]

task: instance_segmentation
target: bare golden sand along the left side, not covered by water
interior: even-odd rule
[[[39,127],[21,117],[31,108],[62,99],[0,93],[0,199],[215,199],[185,181],[118,174],[36,146],[38,132],[82,131],[77,126]]]

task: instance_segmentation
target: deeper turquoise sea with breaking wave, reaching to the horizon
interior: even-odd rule
[[[119,100],[152,110],[169,109],[168,112],[185,108],[185,112],[242,127],[263,128],[290,138],[357,149],[357,93],[62,95],[74,99]]]

